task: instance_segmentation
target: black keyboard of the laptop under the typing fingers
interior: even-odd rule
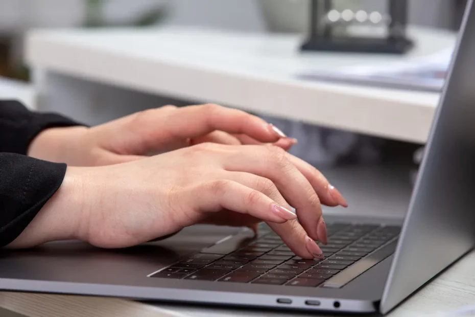
[[[150,277],[341,288],[394,253],[400,227],[327,223],[327,232],[328,244],[317,242],[323,260],[295,256],[277,234],[268,231],[244,247],[217,244]]]

